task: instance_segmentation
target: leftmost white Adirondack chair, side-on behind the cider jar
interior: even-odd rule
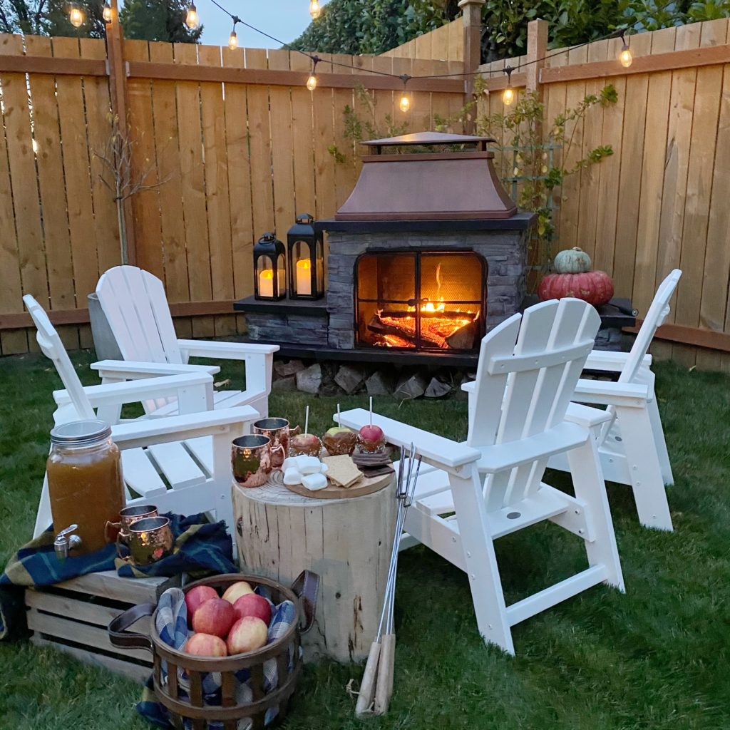
[[[104,412],[114,415],[122,404],[175,398],[180,404],[179,415],[126,423],[112,421],[112,439],[122,450],[127,504],[155,504],[163,512],[173,510],[185,515],[212,512],[216,519],[226,520],[235,542],[231,439],[242,434],[247,423],[258,418],[258,412],[250,406],[210,410],[213,379],[201,369],[84,387],[42,307],[30,295],[23,301],[37,327],[39,347],[53,361],[66,388],[53,393],[58,404],[55,423],[105,420]],[[34,537],[51,522],[44,479]]]

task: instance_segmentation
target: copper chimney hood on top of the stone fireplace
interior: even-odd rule
[[[353,193],[335,220],[511,218],[517,207],[494,172],[489,137],[418,132],[369,147]]]

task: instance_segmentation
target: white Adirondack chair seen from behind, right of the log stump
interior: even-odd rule
[[[591,431],[610,415],[585,408],[579,418],[566,418],[599,325],[589,304],[562,299],[537,304],[494,328],[482,341],[474,418],[464,444],[373,417],[389,442],[413,442],[435,467],[420,475],[401,548],[422,542],[464,570],[480,634],[510,654],[515,653],[515,623],[597,583],[623,591]],[[359,428],[368,418],[365,410],[352,410],[342,414],[342,423]],[[548,459],[556,453],[568,456],[575,497],[542,482]],[[507,606],[493,542],[542,520],[583,539],[588,568]]]

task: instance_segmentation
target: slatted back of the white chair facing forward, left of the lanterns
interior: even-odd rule
[[[125,360],[183,362],[162,282],[137,266],[115,266],[96,285]]]

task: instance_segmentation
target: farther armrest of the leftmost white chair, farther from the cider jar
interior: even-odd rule
[[[185,402],[188,404],[187,410],[190,410],[191,399],[196,399],[199,407],[195,410],[210,410],[213,403],[213,378],[204,372],[168,375],[146,380],[128,380],[125,383],[88,385],[84,388],[84,393],[95,408],[175,396],[180,401],[181,408]],[[54,391],[53,398],[59,406],[71,402],[68,391]]]

